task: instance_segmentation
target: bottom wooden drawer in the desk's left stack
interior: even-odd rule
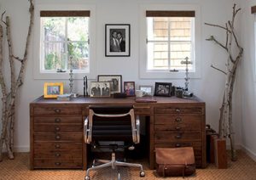
[[[34,168],[82,168],[81,160],[34,160]]]

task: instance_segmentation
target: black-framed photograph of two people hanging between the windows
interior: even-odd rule
[[[106,24],[105,25],[105,56],[130,56],[130,25]]]

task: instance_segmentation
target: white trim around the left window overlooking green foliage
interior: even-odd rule
[[[69,70],[66,72],[56,71],[41,71],[40,65],[40,12],[41,11],[90,11],[89,20],[89,36],[90,36],[90,57],[89,57],[89,72],[84,70],[73,70],[74,79],[83,79],[87,76],[89,79],[95,79],[96,77],[96,7],[95,5],[84,4],[38,4],[35,6],[35,20],[34,20],[34,32],[33,32],[33,77],[34,79],[63,79],[69,78]]]

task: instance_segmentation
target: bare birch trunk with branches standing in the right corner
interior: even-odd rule
[[[235,20],[236,14],[241,10],[241,8],[236,8],[236,3],[233,6],[232,20],[228,21],[224,26],[222,25],[212,25],[205,23],[206,25],[211,25],[213,27],[221,28],[226,33],[225,43],[219,42],[215,37],[211,36],[207,41],[215,42],[219,47],[224,48],[224,51],[228,55],[228,59],[225,62],[225,70],[221,70],[214,65],[211,67],[214,70],[218,70],[225,76],[225,91],[223,101],[220,107],[219,115],[219,127],[218,127],[218,138],[230,138],[231,146],[231,160],[236,160],[236,149],[235,149],[235,132],[233,130],[232,123],[232,98],[233,98],[233,88],[236,80],[236,70],[239,62],[241,61],[243,48],[241,48],[235,32]],[[233,49],[233,44],[235,39],[235,48]],[[234,57],[236,57],[234,59]]]

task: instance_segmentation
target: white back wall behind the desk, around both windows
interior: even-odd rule
[[[139,78],[139,7],[141,4],[148,3],[174,3],[187,4],[186,0],[38,0],[38,3],[90,3],[96,5],[96,74],[121,74],[123,81],[135,81],[139,84],[154,85],[154,82],[172,82],[176,86],[183,86],[183,79],[180,80],[143,80]],[[216,70],[210,68],[211,64],[224,68],[226,55],[221,48],[218,48],[212,42],[205,39],[210,35],[215,35],[221,41],[224,41],[224,31],[218,28],[204,25],[205,22],[224,25],[230,20],[233,0],[190,0],[189,4],[199,5],[201,7],[201,78],[191,79],[189,87],[199,98],[207,104],[207,123],[218,129],[219,107],[224,92],[224,76]],[[1,11],[7,10],[7,14],[12,20],[12,36],[14,40],[15,54],[21,55],[24,50],[26,31],[28,25],[27,0],[1,0]],[[104,56],[104,25],[110,23],[131,24],[131,57],[110,58]],[[38,36],[38,35],[34,35]],[[29,59],[26,65],[26,76],[23,87],[20,88],[20,98],[17,100],[17,115],[15,124],[15,147],[19,150],[29,149],[29,104],[34,98],[38,98],[44,93],[44,82],[48,80],[35,80],[33,78],[33,57],[32,47],[29,51]],[[56,80],[57,81],[57,80]],[[68,82],[66,81],[66,84]],[[239,83],[236,85],[237,102],[240,90]],[[245,87],[245,86],[244,86]],[[66,88],[67,89],[67,88]],[[83,83],[81,80],[75,82],[75,91],[83,92]],[[249,102],[249,101],[247,101]],[[245,104],[243,104],[245,105]],[[248,105],[248,110],[250,109]],[[251,121],[253,121],[253,110],[251,110]],[[234,124],[236,131],[236,144],[241,143],[241,105],[237,103],[234,106]],[[248,129],[251,130],[250,126]],[[243,130],[244,131],[244,130]],[[251,130],[253,132],[253,129]],[[250,132],[247,132],[250,133]],[[249,135],[248,138],[253,136]],[[252,140],[252,139],[251,139]],[[244,141],[244,139],[243,139]],[[251,144],[251,142],[248,142]],[[252,146],[252,145],[251,145]],[[250,146],[248,146],[250,147]],[[255,144],[254,152],[256,152]]]

